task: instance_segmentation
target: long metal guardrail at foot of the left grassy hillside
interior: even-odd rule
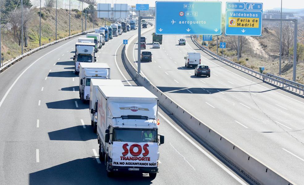
[[[30,55],[30,54],[35,53],[36,51],[39,51],[39,50],[44,49],[44,48],[46,48],[46,47],[52,46],[52,45],[57,44],[57,43],[59,43],[59,42],[65,41],[65,40],[67,40],[67,39],[70,39],[70,38],[73,38],[73,37],[77,37],[77,36],[82,35],[82,34],[90,33],[90,32],[92,32],[92,31],[94,31],[94,30],[95,30],[95,29],[90,29],[90,30],[86,30],[86,31],[81,32],[81,33],[78,33],[78,34],[74,34],[74,35],[71,35],[71,36],[68,36],[68,37],[65,37],[65,38],[61,38],[61,39],[56,40],[56,41],[54,41],[54,42],[50,42],[50,43],[45,44],[45,45],[43,45],[43,46],[37,47],[37,48],[35,48],[35,49],[31,50],[31,51],[28,51],[28,52],[26,52],[26,53],[24,53],[24,54],[22,54],[22,55],[19,55],[19,56],[17,56],[16,58],[14,58],[14,59],[12,59],[11,61],[9,61],[8,63],[4,64],[2,67],[0,67],[0,73],[1,73],[2,71],[6,70],[6,69],[7,69],[8,67],[10,67],[11,65],[15,64],[16,62],[18,62],[19,60],[23,59],[24,57],[26,57],[26,56],[28,56],[28,55]]]

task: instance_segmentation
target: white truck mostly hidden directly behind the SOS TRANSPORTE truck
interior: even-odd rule
[[[93,127],[94,133],[97,131],[97,95],[98,86],[124,86],[121,80],[114,79],[91,79],[90,85],[90,116],[91,116],[91,126]]]

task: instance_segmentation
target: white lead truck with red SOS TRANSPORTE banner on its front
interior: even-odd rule
[[[158,172],[158,98],[140,86],[98,86],[97,139],[107,175]],[[158,139],[159,136],[159,139]]]

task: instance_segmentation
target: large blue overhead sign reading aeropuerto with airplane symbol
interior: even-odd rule
[[[155,34],[219,35],[221,23],[222,2],[155,2]]]

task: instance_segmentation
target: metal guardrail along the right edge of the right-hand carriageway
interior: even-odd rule
[[[276,76],[274,74],[270,74],[270,73],[262,74],[260,72],[255,71],[255,70],[249,69],[248,67],[242,66],[242,65],[240,65],[238,63],[235,63],[235,62],[233,62],[231,60],[228,60],[227,58],[221,57],[221,56],[213,53],[212,51],[210,51],[207,48],[203,47],[199,42],[197,42],[192,37],[192,35],[191,35],[191,39],[196,44],[196,46],[198,46],[199,48],[201,48],[202,50],[204,50],[206,53],[208,53],[209,55],[211,55],[213,58],[218,59],[219,61],[226,62],[230,66],[238,67],[238,69],[242,70],[243,72],[246,72],[246,73],[249,73],[249,74],[251,73],[252,75],[255,74],[256,77],[258,75],[259,78],[263,79],[263,82],[266,81],[266,82],[272,83],[275,86],[279,86],[279,87],[282,86],[286,90],[289,90],[289,91],[292,91],[292,92],[294,92],[293,90],[296,89],[296,93],[298,93],[298,91],[299,91],[298,95],[301,95],[301,91],[302,91],[302,95],[304,95],[304,85],[303,84],[300,84],[300,83],[297,83],[297,82],[293,82],[291,80],[288,80],[288,79]],[[287,89],[287,87],[288,87],[288,89]],[[290,87],[291,87],[291,90],[290,90]]]

